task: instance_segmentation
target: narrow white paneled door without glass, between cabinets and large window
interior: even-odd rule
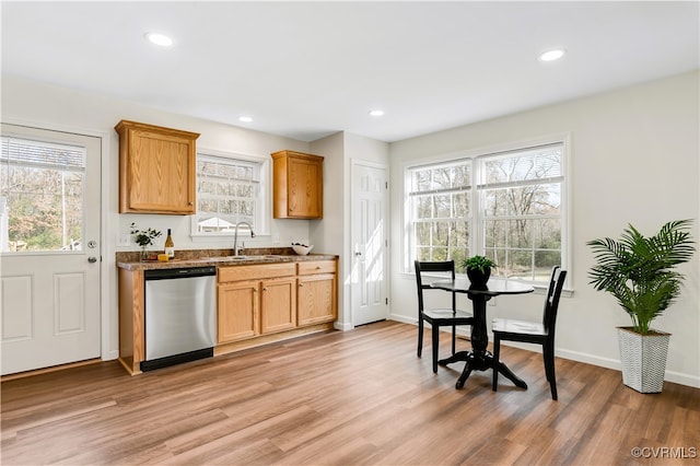
[[[352,286],[354,326],[388,316],[386,168],[355,162],[352,165]]]

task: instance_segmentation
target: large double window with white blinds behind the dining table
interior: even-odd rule
[[[537,283],[567,266],[563,142],[409,167],[407,182],[408,268],[481,254]]]

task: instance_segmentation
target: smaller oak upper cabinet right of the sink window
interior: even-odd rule
[[[294,151],[272,154],[272,212],[276,219],[324,215],[324,158]]]

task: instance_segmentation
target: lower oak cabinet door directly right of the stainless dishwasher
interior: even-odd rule
[[[218,287],[218,342],[259,335],[258,287],[258,281],[237,281]]]

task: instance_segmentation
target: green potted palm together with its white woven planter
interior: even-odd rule
[[[619,240],[586,243],[596,260],[588,273],[591,284],[612,294],[632,319],[632,326],[618,327],[622,382],[641,393],[660,393],[663,387],[670,334],[651,324],[680,294],[685,277],[674,269],[696,251],[688,231],[691,222],[668,222],[650,237],[629,225]]]

